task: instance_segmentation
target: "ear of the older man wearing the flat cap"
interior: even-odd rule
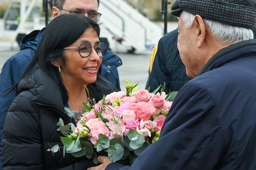
[[[195,15],[194,24],[196,27],[196,36],[197,36],[197,47],[201,47],[205,41],[206,36],[206,26],[203,22],[203,19],[200,15]]]

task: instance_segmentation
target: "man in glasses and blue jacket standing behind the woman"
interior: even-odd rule
[[[64,13],[77,13],[86,15],[94,21],[98,21],[101,16],[101,14],[97,12],[100,0],[53,0],[52,3],[53,18]],[[43,32],[44,29],[35,30],[26,35],[20,42],[20,52],[9,58],[2,68],[0,74],[0,137],[2,136],[7,111],[15,97],[14,91],[6,94],[6,90],[19,81],[27,65],[34,57]],[[120,57],[108,50],[108,53],[102,61],[101,70],[99,72],[100,76],[110,81],[118,90],[121,90],[117,71],[117,67],[120,65],[122,65]]]

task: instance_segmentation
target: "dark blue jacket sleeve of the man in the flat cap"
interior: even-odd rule
[[[111,163],[107,170],[213,170],[228,144],[218,109],[207,90],[187,84],[175,98],[160,139],[131,167]]]

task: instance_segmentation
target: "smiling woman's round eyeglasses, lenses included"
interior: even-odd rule
[[[91,52],[92,48],[94,47],[95,52],[97,52],[99,57],[104,57],[108,52],[108,45],[105,43],[99,43],[97,45],[91,45],[88,42],[83,42],[79,44],[79,46],[75,47],[66,47],[63,49],[75,49],[78,48],[78,52],[81,55],[81,57],[88,57]]]

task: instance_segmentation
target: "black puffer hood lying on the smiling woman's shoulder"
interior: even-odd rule
[[[25,90],[34,94],[34,102],[54,105],[64,110],[59,85],[46,72],[37,69],[32,75],[23,78],[18,85],[18,94]]]

